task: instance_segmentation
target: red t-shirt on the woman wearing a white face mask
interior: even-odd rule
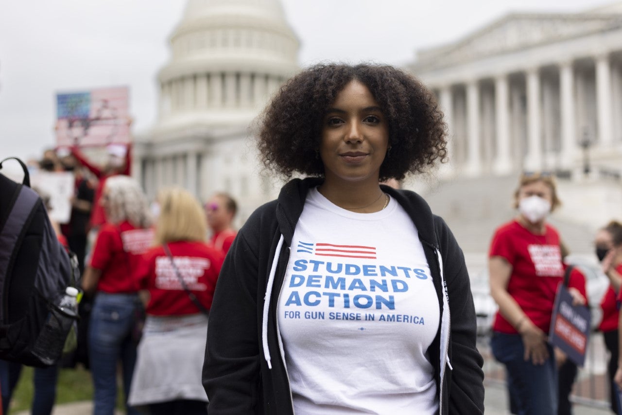
[[[499,227],[491,242],[489,257],[500,256],[512,265],[508,293],[529,319],[545,333],[549,332],[557,285],[564,277],[559,234],[546,225],[544,235],[529,232],[517,221]],[[514,327],[497,312],[493,330],[516,333]]]

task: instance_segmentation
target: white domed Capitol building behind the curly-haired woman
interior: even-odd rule
[[[251,125],[299,69],[299,41],[279,0],[188,0],[170,50],[157,76],[157,122],[136,139],[133,174],[151,198],[171,184],[203,201],[226,191],[243,220],[274,193]]]

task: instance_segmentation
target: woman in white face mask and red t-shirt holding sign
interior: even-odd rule
[[[519,214],[496,230],[490,246],[490,292],[499,306],[491,348],[506,366],[508,394],[520,414],[557,413],[557,370],[547,333],[564,264],[559,234],[546,218],[559,205],[550,174],[522,174],[514,192]],[[569,290],[575,302],[585,303],[577,288]]]

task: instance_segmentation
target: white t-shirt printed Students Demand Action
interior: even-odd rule
[[[431,414],[426,350],[439,300],[417,229],[394,200],[355,213],[307,195],[279,297],[297,414]]]

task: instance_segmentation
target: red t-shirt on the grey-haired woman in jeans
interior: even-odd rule
[[[151,246],[153,236],[153,229],[136,228],[127,221],[103,224],[91,257],[91,267],[101,270],[97,289],[107,293],[137,292],[133,275],[139,255]]]

